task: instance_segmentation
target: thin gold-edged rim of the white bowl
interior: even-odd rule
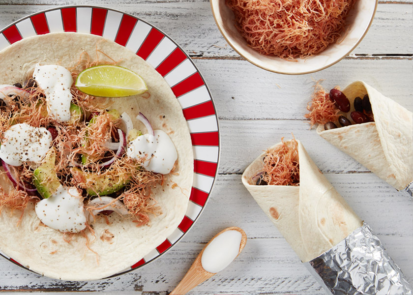
[[[322,71],[322,70],[324,70],[324,69],[326,69],[326,68],[328,68],[328,67],[336,64],[337,62],[341,61],[342,59],[346,58],[346,57],[358,46],[358,44],[360,44],[361,40],[364,39],[364,36],[365,36],[365,35],[367,34],[367,32],[369,31],[369,29],[370,29],[370,27],[371,27],[371,24],[373,23],[374,17],[375,17],[375,15],[376,15],[377,5],[378,5],[378,3],[379,3],[379,0],[375,0],[373,14],[372,14],[372,16],[371,16],[371,19],[370,19],[370,22],[369,22],[367,28],[364,30],[363,34],[360,36],[360,38],[357,40],[357,42],[355,42],[354,46],[353,46],[344,56],[342,56],[341,58],[339,58],[339,59],[337,59],[337,60],[335,60],[335,61],[333,61],[333,62],[325,65],[324,67],[321,67],[321,68],[317,68],[317,69],[314,69],[314,70],[311,70],[311,71],[295,72],[295,73],[293,73],[293,72],[277,71],[277,70],[275,70],[275,69],[273,69],[273,68],[271,68],[271,67],[265,66],[264,64],[259,64],[259,63],[257,63],[257,62],[254,62],[254,61],[250,60],[250,59],[247,59],[243,54],[241,54],[241,53],[238,51],[238,49],[236,48],[236,46],[228,39],[228,36],[226,35],[226,31],[224,31],[224,29],[222,29],[221,26],[218,24],[218,21],[217,21],[217,19],[216,19],[216,15],[215,15],[215,11],[214,11],[214,7],[216,7],[216,6],[214,6],[214,1],[215,1],[215,0],[210,0],[212,16],[214,17],[215,24],[216,24],[216,26],[218,27],[221,35],[222,35],[222,36],[224,37],[224,39],[228,42],[228,44],[230,44],[230,46],[232,47],[232,49],[233,49],[241,58],[247,60],[248,62],[252,63],[253,65],[258,66],[259,68],[262,68],[262,69],[264,69],[264,70],[266,70],[266,71],[269,71],[269,72],[273,72],[273,73],[277,73],[277,74],[284,74],[284,75],[305,75],[305,74],[315,73],[315,72],[318,72],[318,71]],[[225,0],[216,0],[216,3],[218,3],[219,1],[225,1]]]

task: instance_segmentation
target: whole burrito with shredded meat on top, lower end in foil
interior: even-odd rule
[[[330,294],[412,294],[380,240],[299,141],[262,153],[242,183]]]

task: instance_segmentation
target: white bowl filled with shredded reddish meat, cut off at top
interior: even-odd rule
[[[221,34],[244,59],[290,75],[323,70],[366,35],[378,0],[211,0]]]

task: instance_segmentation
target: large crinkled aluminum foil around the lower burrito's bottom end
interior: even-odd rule
[[[412,286],[367,224],[305,263],[328,294],[412,295]]]

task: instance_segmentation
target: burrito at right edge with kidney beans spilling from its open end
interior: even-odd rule
[[[345,98],[340,91],[335,90],[332,89],[328,94],[324,89],[319,89],[314,95],[307,118],[319,124],[317,133],[397,190],[406,190],[411,195],[412,112],[362,81],[356,81],[342,90],[346,102],[343,102]],[[334,102],[337,107],[335,120],[334,116],[327,119],[323,114],[316,118],[317,94],[329,96]]]

